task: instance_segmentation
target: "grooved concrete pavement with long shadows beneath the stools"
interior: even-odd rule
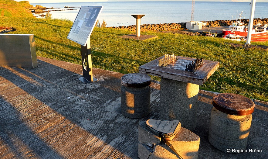
[[[138,123],[159,119],[159,81],[150,85],[151,113],[131,119],[120,110],[124,74],[93,68],[99,81],[83,84],[81,65],[37,59],[36,68],[0,67],[0,158],[138,159]],[[267,102],[254,100],[247,152],[224,153],[209,143],[215,94],[199,90],[198,158],[267,158]]]

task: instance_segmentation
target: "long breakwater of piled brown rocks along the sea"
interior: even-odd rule
[[[215,21],[202,21],[206,23],[207,27],[216,27],[216,26],[229,26],[232,24],[232,22],[237,22],[239,21],[239,19],[237,20],[215,20]],[[243,20],[242,20],[243,22]],[[245,25],[248,25],[249,23],[249,19],[245,19]],[[260,18],[256,18],[253,21],[253,25],[256,24],[268,24],[268,18],[264,18],[264,19],[260,19]],[[110,28],[114,28],[114,29],[126,29],[126,30],[130,30],[130,31],[135,31],[136,30],[136,26],[135,25],[131,25],[131,26],[111,26]],[[142,24],[141,25],[141,31],[169,31],[169,30],[185,30],[186,29],[186,22],[180,22],[180,23],[164,23],[164,24]]]

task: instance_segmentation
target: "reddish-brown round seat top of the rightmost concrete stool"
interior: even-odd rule
[[[212,105],[221,112],[236,116],[251,114],[255,107],[251,99],[233,93],[215,95],[212,99]]]

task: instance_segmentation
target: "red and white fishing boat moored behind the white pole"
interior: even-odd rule
[[[239,21],[233,22],[232,25],[229,26],[229,29],[222,29],[223,38],[228,34],[247,36],[248,26],[244,26],[244,22],[241,22],[242,13],[243,12],[239,14]],[[267,24],[264,26],[262,24],[254,25],[251,33],[251,41],[268,41],[267,26]]]

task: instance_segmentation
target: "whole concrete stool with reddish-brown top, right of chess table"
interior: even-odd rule
[[[245,149],[254,102],[243,95],[220,93],[213,97],[212,105],[209,142],[228,153]]]

